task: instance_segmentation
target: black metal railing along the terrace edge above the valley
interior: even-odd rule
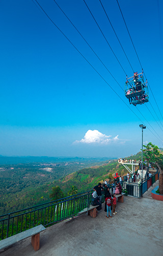
[[[159,174],[155,173],[143,184],[123,183],[128,195],[140,198],[145,191],[158,179]],[[110,193],[113,193],[115,184],[110,184]],[[84,208],[90,206],[92,190],[60,200],[26,208],[20,211],[11,212],[0,216],[0,240],[13,236],[19,232],[43,224],[53,225],[59,221],[77,215]],[[102,198],[104,201],[104,195]]]

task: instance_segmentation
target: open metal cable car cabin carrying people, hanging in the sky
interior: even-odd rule
[[[144,82],[143,72],[135,72],[132,77],[126,78],[125,96],[134,106],[149,101],[147,80]]]

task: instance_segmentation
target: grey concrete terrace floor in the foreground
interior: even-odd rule
[[[117,204],[118,214],[113,218],[107,219],[103,209],[95,219],[85,214],[46,228],[40,233],[38,251],[34,251],[29,238],[2,251],[0,255],[162,255],[162,209],[163,202],[153,200],[149,195],[144,194],[141,199],[124,197],[124,203]]]

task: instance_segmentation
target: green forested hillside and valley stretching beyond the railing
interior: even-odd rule
[[[141,159],[141,152],[127,159]],[[105,179],[113,179],[115,173],[119,175],[127,173],[117,160],[102,162],[100,160],[105,159],[75,158],[75,160],[1,165],[0,214],[49,202],[51,189],[55,186],[59,186],[66,197],[72,186],[76,186],[77,193],[80,193],[92,189],[94,185]]]

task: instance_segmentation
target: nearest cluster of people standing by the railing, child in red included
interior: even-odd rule
[[[112,189],[112,190],[111,190]],[[117,212],[116,204],[117,204],[117,194],[122,194],[122,186],[121,183],[117,183],[117,181],[110,187],[107,186],[107,184],[104,184],[104,187],[102,187],[101,183],[98,183],[97,186],[94,186],[93,188],[94,192],[92,194],[92,205],[98,205],[97,210],[102,209],[102,194],[104,194],[105,197],[105,209],[104,211],[107,212],[106,218],[108,218],[108,212],[110,212],[110,217],[112,218],[112,209],[113,209],[113,215],[116,215]],[[112,191],[112,195],[110,193],[110,190]]]

